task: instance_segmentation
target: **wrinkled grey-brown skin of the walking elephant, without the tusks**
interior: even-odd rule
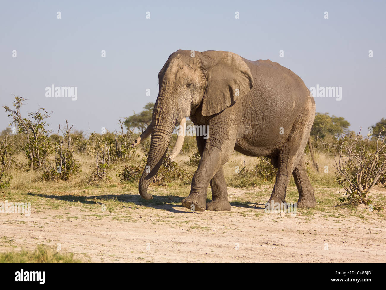
[[[154,128],[139,193],[152,199],[147,187],[165,156],[175,125],[189,116],[208,125],[207,139],[197,136],[201,161],[183,206],[195,211],[229,211],[223,165],[236,150],[267,156],[278,169],[269,203],[285,202],[291,174],[299,191],[297,207],[316,205],[308,180],[304,149],[315,118],[315,102],[303,81],[269,60],[249,61],[225,51],[178,50],[158,74],[159,94]],[[283,133],[283,134],[281,134]],[[208,184],[212,201],[207,200]]]

